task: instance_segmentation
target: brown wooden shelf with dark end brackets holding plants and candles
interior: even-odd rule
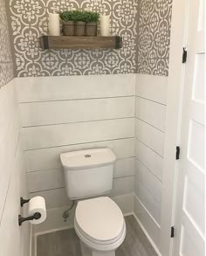
[[[120,49],[122,38],[115,37],[52,37],[43,36],[40,45],[45,49]]]

